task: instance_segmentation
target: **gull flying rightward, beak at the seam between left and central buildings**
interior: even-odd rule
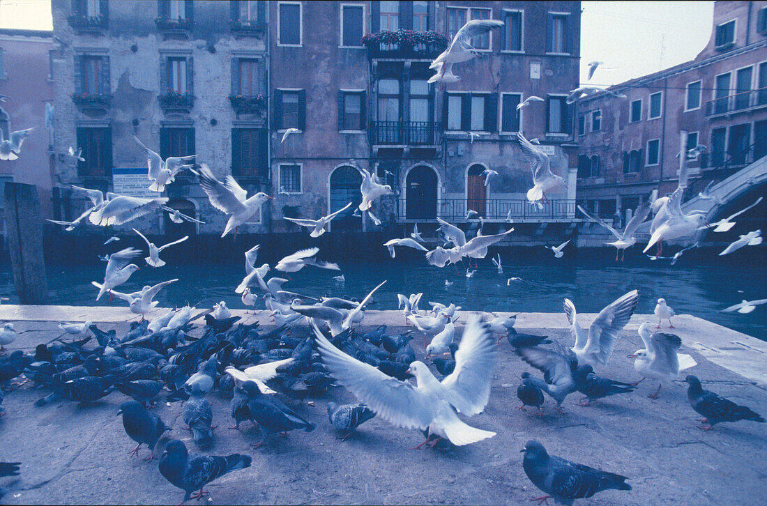
[[[237,235],[239,225],[247,222],[252,215],[255,215],[255,212],[261,209],[261,205],[267,199],[274,199],[264,192],[258,192],[248,198],[248,192],[237,184],[231,174],[227,174],[224,182],[220,182],[204,163],[200,166],[199,172],[195,170],[192,172],[199,177],[202,189],[208,194],[210,204],[219,211],[230,215],[221,237],[232,232],[232,229]]]

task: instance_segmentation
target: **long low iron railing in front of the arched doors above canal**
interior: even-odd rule
[[[446,222],[464,222],[469,209],[476,211],[483,219],[512,222],[565,220],[575,217],[574,200],[548,200],[542,209],[525,199],[439,199],[424,205],[423,202],[407,199],[397,201],[397,218],[430,220],[442,218]],[[476,216],[474,216],[476,218]]]

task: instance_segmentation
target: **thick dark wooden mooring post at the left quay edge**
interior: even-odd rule
[[[38,188],[21,182],[6,182],[3,199],[8,251],[18,298],[21,304],[48,304]]]

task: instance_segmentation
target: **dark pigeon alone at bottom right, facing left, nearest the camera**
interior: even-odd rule
[[[528,441],[525,448],[522,467],[533,485],[546,495],[533,501],[545,501],[553,498],[557,504],[570,506],[575,499],[590,498],[603,490],[631,490],[625,476],[600,471],[588,465],[576,464],[564,458],[548,455],[543,445],[537,441]]]

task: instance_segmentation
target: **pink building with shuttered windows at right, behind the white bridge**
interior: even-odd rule
[[[578,201],[611,218],[676,189],[682,133],[691,189],[767,154],[767,2],[716,2],[693,61],[578,100]]]

